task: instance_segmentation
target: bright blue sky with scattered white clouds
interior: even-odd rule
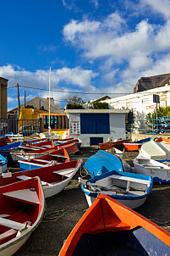
[[[17,83],[20,103],[25,91],[27,101],[48,97],[50,67],[51,96],[61,108],[67,97],[118,97],[133,93],[142,76],[169,73],[169,10],[169,0],[2,1],[8,109],[18,105],[17,88],[10,88]]]

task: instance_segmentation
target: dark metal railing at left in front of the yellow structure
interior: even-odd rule
[[[0,120],[0,135],[13,132],[23,136],[29,136],[33,133],[41,132],[40,120]]]

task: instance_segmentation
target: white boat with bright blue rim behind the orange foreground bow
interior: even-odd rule
[[[88,181],[79,177],[81,189],[90,207],[100,194],[107,194],[130,209],[138,209],[151,193],[152,178],[123,171],[109,171],[95,175]]]

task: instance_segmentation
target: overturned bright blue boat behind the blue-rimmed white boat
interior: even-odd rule
[[[102,150],[87,159],[84,168],[91,176],[101,175],[112,170],[133,172],[125,161],[121,161],[117,156]]]

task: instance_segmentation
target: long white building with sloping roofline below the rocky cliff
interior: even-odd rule
[[[153,102],[153,94],[159,95],[160,103],[158,103],[157,106],[170,106],[170,83],[144,92],[137,92],[122,97],[113,97],[103,102],[108,103],[110,109],[133,110],[135,119],[145,119],[146,114],[156,109],[156,103]]]

